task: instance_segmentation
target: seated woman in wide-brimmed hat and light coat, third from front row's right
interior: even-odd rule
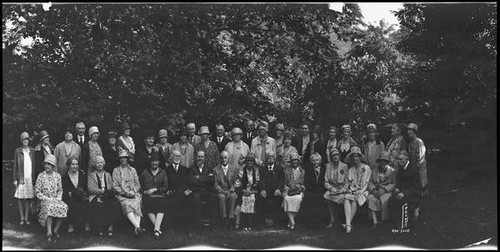
[[[365,156],[361,153],[359,147],[354,146],[347,154],[345,161],[351,164],[349,168],[349,190],[344,196],[344,211],[345,211],[345,232],[351,233],[351,222],[356,215],[356,210],[366,202],[368,195],[368,183],[370,182],[371,169],[370,166],[361,163],[365,160]]]

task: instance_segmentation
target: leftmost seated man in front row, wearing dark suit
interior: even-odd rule
[[[194,201],[192,190],[189,185],[189,168],[180,165],[181,153],[177,150],[172,152],[172,164],[167,166],[169,215],[175,228],[187,229],[187,235],[192,237],[194,225],[193,209]],[[169,216],[167,215],[167,216]]]

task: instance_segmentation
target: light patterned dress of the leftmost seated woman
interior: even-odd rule
[[[68,214],[68,205],[62,201],[63,189],[61,175],[52,172],[42,172],[38,175],[35,185],[36,197],[40,200],[40,213],[38,221],[45,227],[49,216],[57,218],[66,218]]]

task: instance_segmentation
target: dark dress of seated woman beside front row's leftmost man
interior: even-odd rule
[[[147,191],[151,188],[157,188],[158,191],[153,194],[143,194],[142,207],[146,213],[165,213],[167,211],[167,191],[168,179],[167,172],[158,168],[158,173],[153,175],[151,169],[142,171],[139,177],[141,190]]]

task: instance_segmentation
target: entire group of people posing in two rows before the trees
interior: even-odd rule
[[[114,225],[126,219],[141,236],[144,213],[157,238],[165,216],[189,236],[202,225],[203,215],[223,230],[249,230],[255,220],[273,227],[286,213],[287,227],[294,230],[301,207],[325,202],[326,228],[342,226],[346,233],[352,232],[357,208],[365,203],[372,230],[381,221],[398,219],[405,204],[410,218],[418,217],[428,181],[425,145],[416,124],[394,124],[387,145],[374,124],[367,126],[368,138],[361,145],[351,137],[349,125],[342,126],[340,139],[335,126],[326,139],[319,126],[310,131],[306,123],[297,136],[282,123],[275,126],[274,137],[268,135],[266,121],[255,127],[249,120],[245,126],[245,131],[234,127],[228,137],[217,124],[211,138],[209,127],[201,126],[196,134],[195,124],[189,123],[174,144],[166,129],[157,134],[146,130],[144,141],[136,144],[131,127],[123,123],[121,135],[108,132],[102,146],[98,127],[85,135],[85,124],[79,122],[76,139],[68,129],[55,148],[47,131],[40,132],[34,148],[23,132],[13,168],[20,225],[31,224],[33,205],[39,206],[38,221],[49,241],[60,237],[63,220],[69,233],[82,227],[112,236]],[[403,137],[405,129],[408,138]],[[345,222],[340,225],[342,212]]]

